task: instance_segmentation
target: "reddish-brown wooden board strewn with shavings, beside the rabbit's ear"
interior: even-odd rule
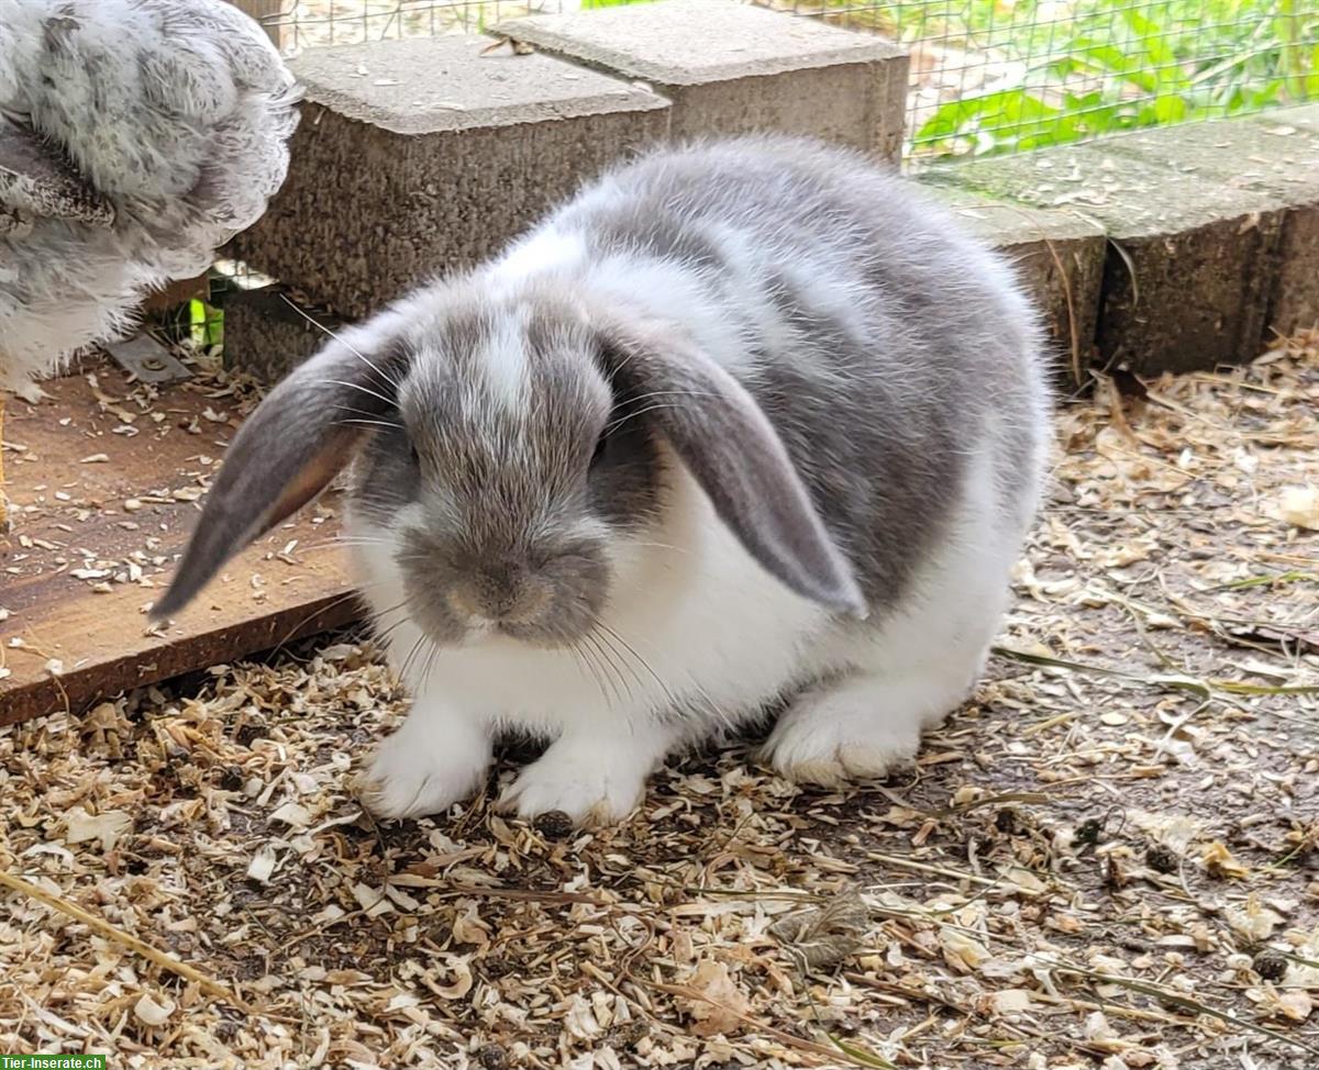
[[[12,399],[5,420],[16,515],[0,535],[0,725],[84,709],[360,614],[331,494],[237,557],[175,623],[150,629],[145,607],[239,423],[233,401],[191,381],[144,408],[129,397],[144,391],[109,361],[44,386],[49,399]]]

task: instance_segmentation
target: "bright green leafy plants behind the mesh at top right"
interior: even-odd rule
[[[992,88],[940,105],[919,153],[1004,153],[1116,130],[1221,117],[1319,96],[1319,9],[1308,0],[1080,0],[1060,18],[1035,0],[888,5],[892,30],[960,38],[1016,62]],[[956,18],[950,12],[956,8]]]

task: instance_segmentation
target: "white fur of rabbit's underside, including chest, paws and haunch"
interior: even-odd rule
[[[910,762],[921,730],[973,687],[1006,601],[1020,534],[995,510],[987,466],[987,457],[972,465],[917,593],[882,629],[860,633],[770,577],[681,474],[662,526],[619,547],[617,596],[601,618],[621,639],[617,680],[603,689],[563,651],[501,636],[431,652],[412,623],[396,627],[404,610],[385,611],[404,601],[388,549],[398,528],[351,518],[357,578],[393,629],[388,651],[414,696],[367,774],[367,801],[383,816],[445,810],[484,774],[492,734],[513,726],[555,743],[504,793],[506,805],[616,821],[674,748],[819,679],[830,683],[797,697],[765,747],[778,771],[832,784]],[[657,718],[675,706],[706,716],[683,726]]]

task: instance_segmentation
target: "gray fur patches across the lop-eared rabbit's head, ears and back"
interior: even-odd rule
[[[587,256],[514,285],[499,265],[438,282],[360,328],[364,353],[332,345],[294,373],[231,448],[160,611],[359,441],[356,509],[425,518],[400,564],[437,642],[472,615],[538,644],[584,634],[611,532],[662,515],[674,457],[766,569],[859,615],[902,600],[971,453],[993,456],[1004,510],[1034,507],[1034,318],[897,177],[786,138],[661,150],[546,232]],[[505,343],[517,403],[483,364]]]

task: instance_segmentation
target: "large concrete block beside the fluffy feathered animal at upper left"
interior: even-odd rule
[[[620,157],[669,104],[547,55],[451,36],[313,49],[289,178],[232,256],[343,316],[477,262]]]

